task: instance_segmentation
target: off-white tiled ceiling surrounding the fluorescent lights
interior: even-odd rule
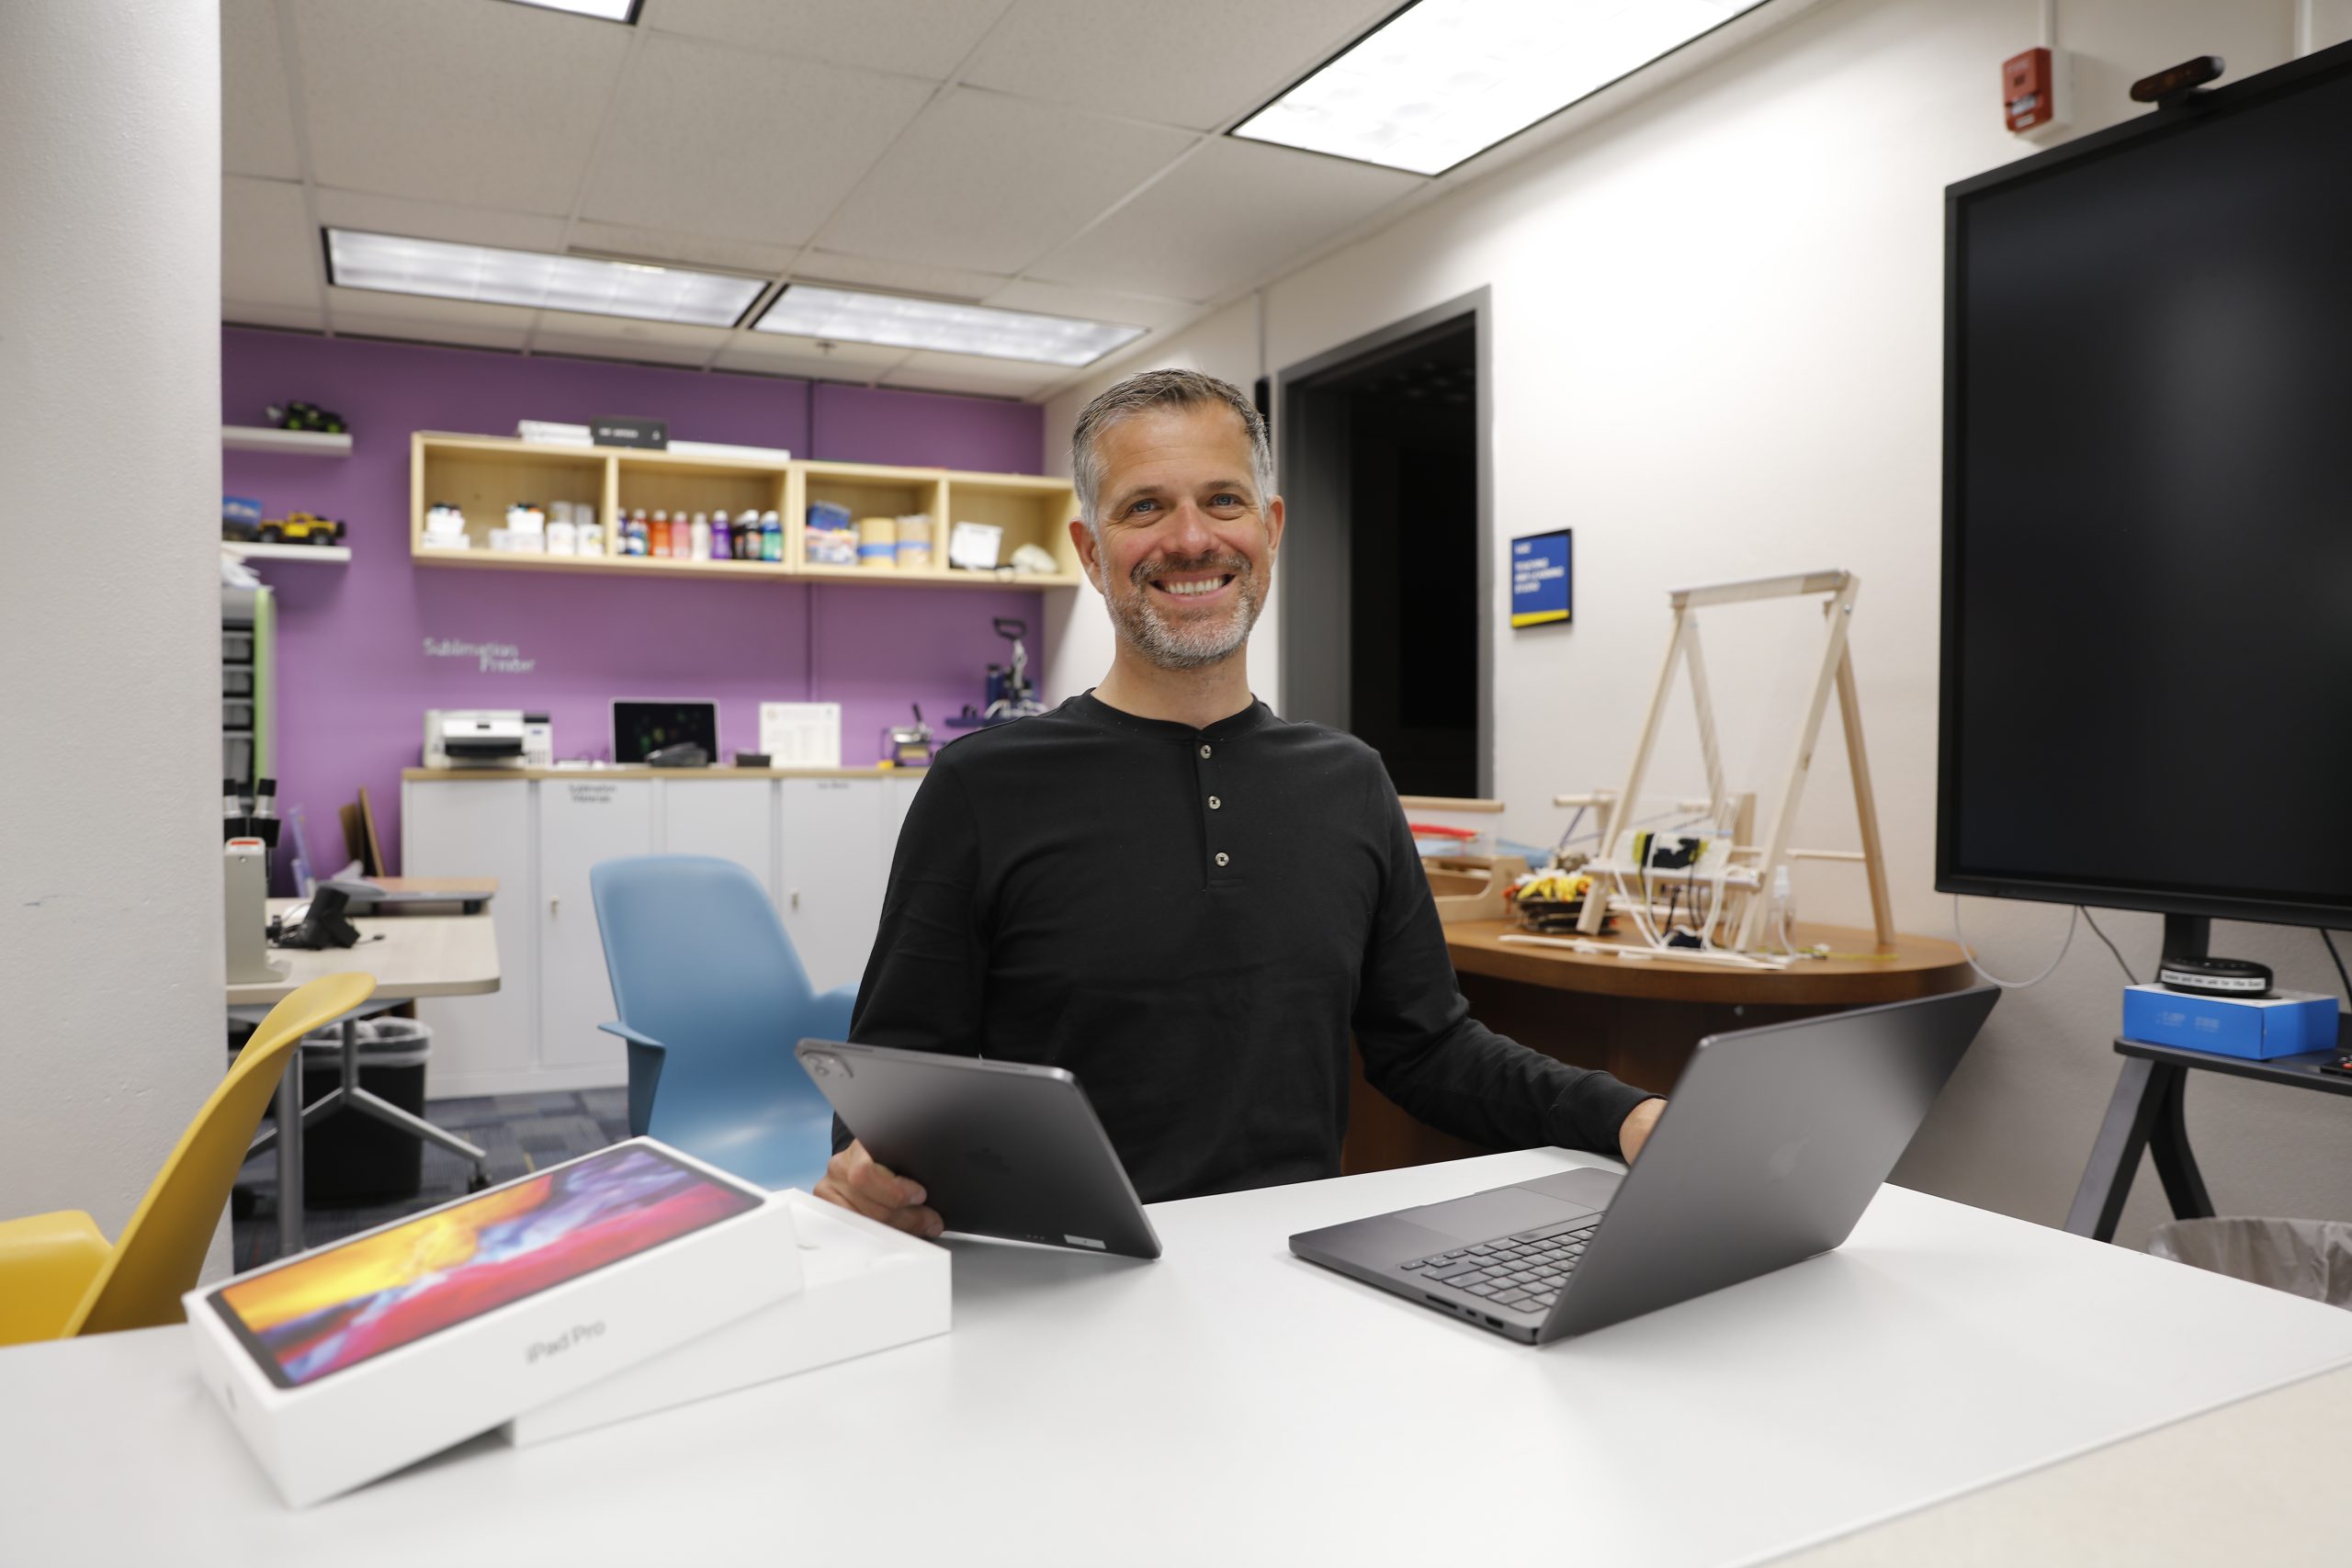
[[[1044,364],[334,289],[320,228],[1176,331],[1432,183],[1223,136],[1395,0],[221,0],[221,315],[1047,397]],[[1145,339],[1145,346],[1150,339]]]

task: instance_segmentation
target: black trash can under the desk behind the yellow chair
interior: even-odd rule
[[[390,1100],[412,1117],[426,1114],[426,1056],[433,1030],[414,1018],[365,1018],[360,1037],[360,1088]],[[343,1027],[332,1025],[301,1041],[301,1093],[318,1100],[343,1081]],[[367,1112],[341,1107],[303,1128],[301,1185],[310,1208],[358,1208],[412,1199],[423,1187],[426,1145],[383,1126]]]

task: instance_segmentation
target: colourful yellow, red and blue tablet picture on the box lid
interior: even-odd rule
[[[306,1387],[762,1201],[626,1143],[230,1281],[209,1300],[270,1382]]]

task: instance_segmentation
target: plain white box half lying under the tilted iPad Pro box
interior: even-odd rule
[[[807,1192],[779,1192],[802,1288],[677,1349],[527,1410],[517,1448],[948,1333],[948,1248]]]

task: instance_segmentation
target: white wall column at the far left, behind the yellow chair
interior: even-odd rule
[[[113,1237],[223,1067],[216,7],[0,5],[0,1218]]]

